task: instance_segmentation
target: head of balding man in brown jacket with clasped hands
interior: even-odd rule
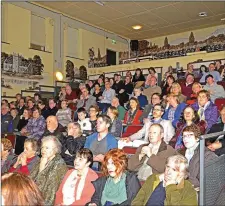
[[[151,144],[158,144],[162,141],[164,136],[164,129],[160,124],[152,124],[149,127],[148,138]]]

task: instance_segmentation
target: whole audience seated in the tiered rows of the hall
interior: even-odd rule
[[[80,92],[67,85],[47,101],[3,99],[1,132],[15,143],[2,135],[2,183],[33,185],[39,205],[197,205],[200,136],[225,131],[225,107],[215,103],[225,98],[219,69],[209,69],[205,85],[192,73],[184,82],[168,73],[158,86],[152,69],[146,79],[137,69],[125,81],[101,75]],[[206,142],[206,163],[223,154],[224,135]]]

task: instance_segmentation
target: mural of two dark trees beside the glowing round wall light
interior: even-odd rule
[[[87,69],[85,66],[80,66],[78,69],[70,60],[66,61],[66,80],[75,81],[76,79],[87,80]]]

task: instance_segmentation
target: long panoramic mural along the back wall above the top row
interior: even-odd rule
[[[136,58],[139,62],[140,57],[149,57],[149,59],[166,59],[173,57],[186,56],[187,53],[206,51],[215,52],[225,50],[225,29],[216,30],[211,36],[204,40],[197,41],[194,33],[191,32],[188,39],[183,39],[179,44],[170,44],[167,37],[164,39],[164,45],[159,46],[148,40],[140,40],[138,51],[130,51],[130,58]],[[129,61],[129,52],[119,53],[119,63],[126,64]]]

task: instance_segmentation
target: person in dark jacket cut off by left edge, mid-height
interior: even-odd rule
[[[1,108],[1,133],[12,132],[12,116],[9,112],[8,104],[3,104]]]

